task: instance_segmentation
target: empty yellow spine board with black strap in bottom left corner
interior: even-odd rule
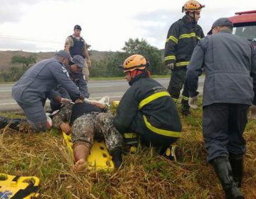
[[[30,183],[33,183],[34,187],[37,187],[40,183],[36,176],[20,176],[17,181],[14,181],[14,178],[16,176],[0,173],[0,198],[12,198],[18,190],[26,189]],[[39,193],[30,193],[24,199],[37,198],[38,195]]]

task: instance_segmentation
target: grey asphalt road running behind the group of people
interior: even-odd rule
[[[156,79],[164,87],[168,87],[169,78]],[[198,91],[203,91],[204,77],[199,79]],[[124,92],[129,88],[126,80],[108,80],[108,81],[89,81],[88,90],[90,92],[90,99],[101,99],[104,96],[110,97],[110,102],[121,99]],[[18,106],[16,101],[11,97],[10,85],[0,85],[0,112],[21,112],[21,108]],[[46,102],[48,107],[49,102]]]

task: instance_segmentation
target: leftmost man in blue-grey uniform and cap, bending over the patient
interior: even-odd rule
[[[74,101],[78,98],[84,99],[65,69],[70,60],[70,54],[60,50],[54,58],[41,60],[29,68],[12,87],[12,97],[23,109],[28,122],[36,131],[46,131],[44,100],[48,97],[48,92],[57,85],[65,87]],[[60,98],[60,102],[64,104],[70,101],[70,99]]]

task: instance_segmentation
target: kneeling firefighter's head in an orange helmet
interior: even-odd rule
[[[146,70],[149,66],[149,62],[146,61],[142,55],[129,56],[122,65],[122,70],[125,73],[125,79],[127,81],[132,80],[133,77]]]

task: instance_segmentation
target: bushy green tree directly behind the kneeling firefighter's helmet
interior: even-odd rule
[[[139,40],[139,38],[133,40],[132,38],[129,38],[129,40],[125,42],[122,50],[129,55],[143,55],[146,60],[149,60],[151,65],[149,69],[154,75],[166,74],[166,69],[164,68],[164,63],[161,59],[161,50],[150,45],[146,40]]]

